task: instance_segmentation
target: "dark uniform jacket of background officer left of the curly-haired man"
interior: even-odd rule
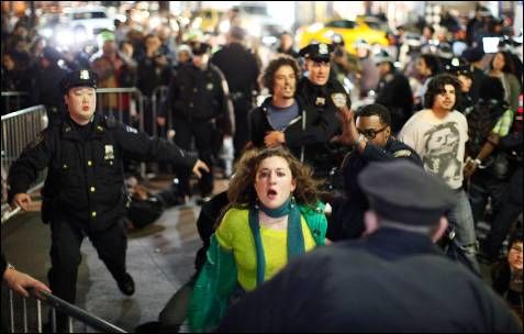
[[[227,92],[227,84],[216,66],[209,64],[202,70],[193,64],[187,64],[172,77],[168,105],[164,110],[171,110],[175,118],[189,122],[220,118],[221,122],[226,122],[226,133],[231,133]]]

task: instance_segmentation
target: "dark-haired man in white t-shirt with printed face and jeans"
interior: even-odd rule
[[[399,140],[416,151],[428,172],[442,177],[455,190],[456,205],[449,211],[448,220],[456,233],[455,245],[461,249],[457,258],[479,274],[475,223],[462,189],[468,123],[464,114],[454,110],[459,91],[460,82],[456,77],[436,76],[424,97],[426,109],[416,112],[404,124]]]

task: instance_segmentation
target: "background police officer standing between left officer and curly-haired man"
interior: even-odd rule
[[[194,138],[200,158],[212,167],[213,153],[219,152],[222,144],[220,134],[232,135],[232,110],[224,76],[209,63],[210,48],[207,43],[193,44],[192,63],[182,66],[172,78],[159,124],[165,124],[166,112],[172,112],[175,143],[189,149]],[[187,169],[179,168],[177,175],[181,194],[191,194]],[[199,186],[202,198],[211,196],[213,172],[204,172]]]

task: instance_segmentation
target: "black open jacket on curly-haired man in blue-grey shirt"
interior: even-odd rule
[[[317,112],[311,104],[305,104],[297,98],[299,115],[283,130],[286,145],[296,157],[311,163],[316,155],[319,145],[327,143],[333,134],[333,124],[325,113]],[[271,98],[267,98],[260,107],[249,113],[250,140],[256,147],[264,147],[264,137],[269,131],[276,131],[269,120],[268,105]]]

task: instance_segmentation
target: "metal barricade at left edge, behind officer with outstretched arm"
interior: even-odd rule
[[[7,210],[7,174],[11,164],[20,156],[36,135],[47,126],[47,115],[44,105],[35,105],[3,115],[2,120],[2,213]],[[27,192],[41,188],[44,183],[45,171],[41,172]]]

